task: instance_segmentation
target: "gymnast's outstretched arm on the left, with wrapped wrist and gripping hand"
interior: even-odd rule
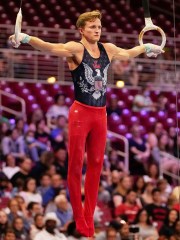
[[[10,36],[10,41],[13,46],[16,46],[14,35]],[[76,42],[68,42],[68,43],[49,43],[41,40],[40,38],[29,36],[24,33],[20,33],[19,36],[20,43],[28,43],[33,48],[42,51],[51,53],[55,56],[59,57],[73,57],[79,51],[79,45]],[[81,49],[80,49],[81,50]]]

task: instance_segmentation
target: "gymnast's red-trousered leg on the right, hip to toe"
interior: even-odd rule
[[[103,110],[104,111],[104,110]],[[106,145],[107,120],[103,118],[94,121],[93,129],[87,138],[87,171],[85,178],[84,215],[89,227],[89,236],[94,235],[93,215],[96,207],[100,174],[102,170]]]

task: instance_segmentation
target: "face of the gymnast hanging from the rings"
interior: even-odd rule
[[[101,36],[101,28],[101,20],[96,18],[92,21],[86,21],[85,26],[80,29],[80,32],[89,42],[97,42]]]

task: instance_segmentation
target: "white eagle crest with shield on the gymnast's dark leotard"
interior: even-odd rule
[[[108,70],[109,64],[104,68],[103,76],[101,76],[100,69],[95,69],[97,74],[93,76],[93,69],[84,62],[83,62],[83,66],[85,69],[85,78],[92,87],[89,89],[87,85],[81,84],[81,90],[91,93],[92,96],[97,100],[98,98],[100,98],[101,95],[104,95],[106,91],[107,70]]]

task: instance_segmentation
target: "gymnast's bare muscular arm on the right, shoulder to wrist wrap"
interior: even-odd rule
[[[107,43],[104,46],[107,49],[108,55],[110,55],[111,60],[126,60],[137,57],[138,55],[145,52],[144,46],[137,46],[128,50],[119,48],[111,43]]]

